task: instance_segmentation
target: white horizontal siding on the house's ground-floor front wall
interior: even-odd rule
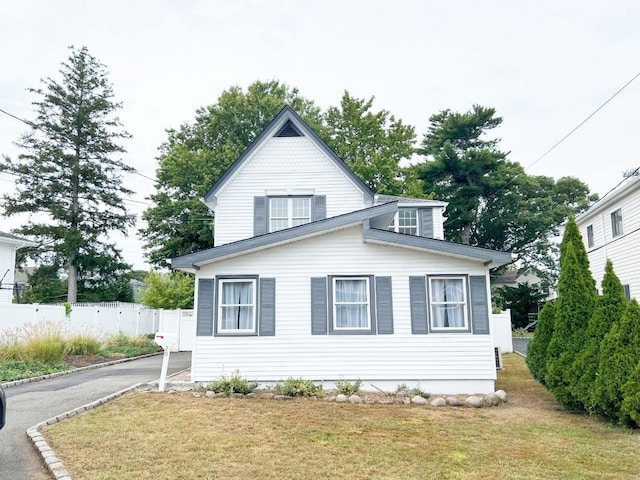
[[[260,272],[261,276],[277,278],[277,335],[198,337],[192,364],[194,381],[211,381],[239,369],[259,382],[302,376],[318,381],[362,379],[391,390],[398,383],[419,382],[421,388],[433,393],[488,392],[493,388],[490,335],[411,333],[409,276],[486,275],[482,262],[363,243],[362,227],[358,226],[216,262],[203,266],[198,275],[211,277],[221,271],[238,275]],[[393,334],[312,335],[310,277],[363,273],[392,278]]]

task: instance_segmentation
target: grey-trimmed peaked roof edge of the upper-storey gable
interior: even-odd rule
[[[289,106],[285,105],[282,110],[271,120],[269,125],[258,135],[253,142],[242,152],[242,154],[229,166],[229,168],[220,176],[209,191],[204,195],[203,201],[209,207],[214,207],[216,204],[216,195],[224,184],[236,173],[240,166],[251,157],[251,154],[264,142],[266,139],[278,135],[283,127],[287,130],[295,129],[303,136],[310,138],[317,146],[322,150],[329,159],[331,159],[340,170],[355,184],[357,188],[362,190],[362,194],[365,200],[373,202],[373,192],[367,187],[367,185],[360,180],[360,178],[353,173],[353,171],[347,167],[347,165],[333,151],[322,141],[320,137],[307,125],[307,123],[300,118],[300,116]],[[283,135],[281,135],[283,136]],[[287,136],[287,135],[285,135]]]

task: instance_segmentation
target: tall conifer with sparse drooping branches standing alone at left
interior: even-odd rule
[[[5,214],[30,216],[16,232],[39,246],[31,253],[43,264],[66,271],[67,300],[75,302],[78,281],[121,275],[127,265],[110,244],[112,231],[126,233],[134,223],[122,203],[132,193],[121,173],[131,171],[115,158],[129,134],[115,115],[107,71],[86,47],[74,49],[60,69],[30,89],[36,118],[18,146],[17,160],[4,158],[0,171],[16,176],[17,192],[5,195]]]

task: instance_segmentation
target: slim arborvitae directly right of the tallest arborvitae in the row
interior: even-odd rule
[[[570,387],[573,395],[591,414],[597,414],[594,387],[600,363],[600,345],[611,326],[620,322],[627,306],[622,284],[613,271],[613,264],[607,261],[602,279],[602,296],[598,298],[595,311],[585,337],[582,351],[578,353],[572,366],[572,378],[577,379]]]

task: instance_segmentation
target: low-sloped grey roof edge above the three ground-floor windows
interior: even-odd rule
[[[423,252],[433,252],[469,260],[482,261],[494,267],[511,262],[511,254],[497,252],[484,248],[470,247],[444,240],[404,235],[385,230],[391,218],[397,211],[397,202],[375,205],[355,212],[346,213],[337,217],[325,218],[316,222],[306,223],[286,230],[259,235],[233,243],[227,243],[219,247],[209,248],[200,252],[191,253],[171,259],[171,266],[181,270],[194,271],[200,266],[224,260],[251,252],[276,247],[305,238],[324,235],[326,233],[342,230],[355,225],[364,224],[363,238],[365,242],[388,244],[397,247],[405,247]]]

